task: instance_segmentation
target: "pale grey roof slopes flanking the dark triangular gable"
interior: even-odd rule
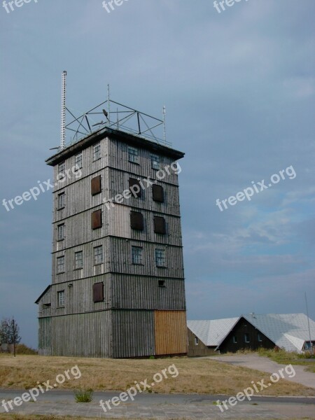
[[[276,346],[286,351],[300,352],[304,342],[309,341],[307,316],[304,314],[249,314],[238,318],[188,321],[188,328],[206,346],[220,346],[241,318],[251,323]],[[311,340],[315,340],[315,322],[309,318]]]

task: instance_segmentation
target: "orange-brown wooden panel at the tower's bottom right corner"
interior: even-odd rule
[[[154,311],[155,354],[187,353],[186,311]]]

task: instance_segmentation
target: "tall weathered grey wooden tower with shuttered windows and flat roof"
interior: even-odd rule
[[[40,354],[187,353],[181,158],[107,123],[46,161],[55,189],[52,283],[36,300]]]

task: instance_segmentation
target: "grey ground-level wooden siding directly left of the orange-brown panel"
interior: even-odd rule
[[[155,354],[153,311],[113,311],[113,358]]]

